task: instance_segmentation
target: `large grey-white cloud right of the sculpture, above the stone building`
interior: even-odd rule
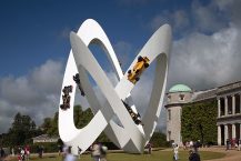
[[[241,80],[241,30],[227,28],[212,36],[194,32],[173,42],[170,83],[207,89]]]

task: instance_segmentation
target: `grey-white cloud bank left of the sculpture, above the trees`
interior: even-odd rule
[[[29,114],[37,124],[58,110],[62,62],[48,60],[27,76],[0,79],[0,133],[7,132],[17,112]]]

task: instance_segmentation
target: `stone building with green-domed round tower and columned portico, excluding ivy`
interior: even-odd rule
[[[193,91],[184,84],[173,85],[167,93],[167,140],[182,145],[181,113],[183,104],[208,100],[218,101],[217,128],[219,145],[225,140],[241,138],[241,81],[222,87]]]

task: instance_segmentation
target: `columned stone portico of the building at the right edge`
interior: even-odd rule
[[[227,139],[241,137],[241,82],[222,85],[217,90],[218,100],[218,144]]]

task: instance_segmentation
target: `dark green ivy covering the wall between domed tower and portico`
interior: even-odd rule
[[[217,100],[188,103],[182,107],[182,141],[198,141],[203,144],[217,144]]]

